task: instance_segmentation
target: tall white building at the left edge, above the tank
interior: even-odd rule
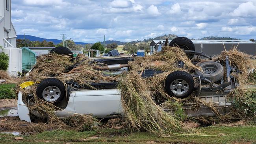
[[[11,0],[0,0],[0,46],[16,47],[16,37],[11,22]]]

